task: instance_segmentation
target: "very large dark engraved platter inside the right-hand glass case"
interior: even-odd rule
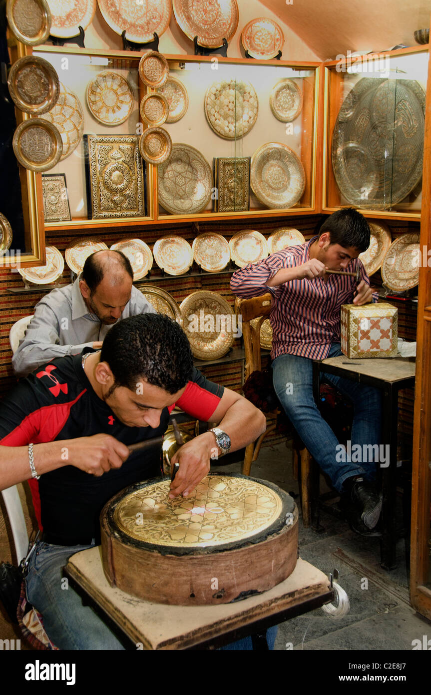
[[[416,80],[364,77],[339,110],[332,168],[347,202],[387,209],[416,188],[423,165],[425,92]]]

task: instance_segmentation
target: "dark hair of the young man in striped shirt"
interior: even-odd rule
[[[319,237],[328,231],[331,244],[345,249],[353,247],[360,252],[370,245],[370,227],[366,219],[355,208],[342,208],[332,213],[319,229]]]

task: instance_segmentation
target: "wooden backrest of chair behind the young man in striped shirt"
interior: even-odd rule
[[[235,313],[242,316],[242,337],[246,356],[245,377],[248,379],[255,370],[260,371],[262,369],[260,328],[265,318],[271,313],[271,294],[251,297],[248,300],[237,297]],[[255,318],[258,320],[252,324],[251,321]]]

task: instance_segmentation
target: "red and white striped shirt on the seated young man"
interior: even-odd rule
[[[310,359],[328,357],[331,343],[340,341],[341,304],[351,304],[356,280],[349,275],[330,275],[291,280],[278,287],[268,287],[280,268],[294,268],[310,259],[310,246],[318,237],[299,246],[289,246],[259,263],[249,263],[234,272],[230,289],[239,297],[256,297],[271,292],[271,322],[273,340],[271,358],[280,354],[297,354]],[[361,280],[370,284],[359,259],[352,259],[347,270],[360,268]],[[377,301],[378,295],[373,295]]]

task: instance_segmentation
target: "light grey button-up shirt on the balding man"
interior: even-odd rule
[[[74,284],[53,290],[36,304],[24,339],[12,357],[12,366],[19,377],[26,376],[50,359],[78,354],[84,347],[103,341],[114,325],[105,325],[94,313],[89,313],[79,289],[80,279],[81,275]],[[155,313],[155,309],[132,286],[130,300],[119,321],[146,312]]]

